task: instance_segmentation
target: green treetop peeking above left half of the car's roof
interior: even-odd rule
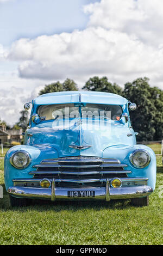
[[[58,82],[46,85],[42,90],[40,90],[39,95],[45,94],[45,93],[63,92],[68,90],[71,90],[71,91],[78,90],[77,84],[69,78],[67,78],[64,83],[60,83],[58,81]]]

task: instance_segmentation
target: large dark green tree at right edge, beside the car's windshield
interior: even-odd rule
[[[137,109],[130,112],[131,124],[139,132],[137,141],[153,141],[162,138],[163,104],[162,91],[149,86],[147,77],[137,78],[124,85],[123,96],[136,103]],[[158,127],[159,126],[159,127]]]

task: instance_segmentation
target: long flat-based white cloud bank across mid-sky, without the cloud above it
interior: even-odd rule
[[[128,78],[162,74],[163,50],[124,32],[102,27],[60,35],[21,39],[12,45],[8,56],[21,62],[20,76],[80,80],[107,75],[123,84]]]

